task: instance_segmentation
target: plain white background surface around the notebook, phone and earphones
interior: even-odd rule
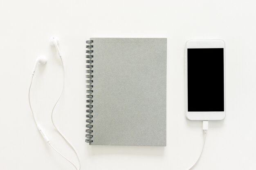
[[[81,170],[186,170],[195,162],[202,122],[185,118],[184,46],[188,39],[206,38],[226,42],[227,116],[209,122],[195,169],[255,170],[255,6],[254,0],[0,0],[0,169],[74,169],[45,143],[29,110],[38,55],[48,62],[36,71],[32,106],[52,144],[77,163],[50,122],[62,85],[60,60],[49,45],[55,35],[66,84],[54,119],[78,150]],[[166,147],[85,143],[85,40],[90,37],[168,38]]]

